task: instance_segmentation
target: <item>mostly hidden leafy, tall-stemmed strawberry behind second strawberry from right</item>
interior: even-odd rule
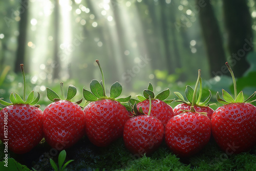
[[[211,98],[211,92],[209,90],[209,96],[204,102],[200,102],[201,96],[202,96],[202,79],[200,77],[199,79],[200,82],[200,88],[199,88],[199,96],[195,98],[195,105],[194,109],[197,112],[205,112],[207,113],[207,116],[211,119],[212,113],[214,113],[214,110],[209,107],[209,105],[216,105],[215,103],[208,104],[207,103],[210,101]],[[176,96],[179,98],[179,100],[175,100],[176,102],[181,102],[180,104],[176,105],[174,108],[174,115],[179,115],[183,112],[183,110],[190,110],[190,107],[192,105],[192,100],[193,100],[193,94],[194,94],[194,89],[191,88],[190,86],[186,86],[185,90],[185,97],[187,101],[184,99],[184,97],[179,93],[179,92],[174,92]]]

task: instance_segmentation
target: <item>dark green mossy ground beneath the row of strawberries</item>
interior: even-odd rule
[[[3,152],[0,142],[0,151]],[[68,170],[256,170],[256,147],[247,153],[227,155],[213,139],[197,155],[190,158],[176,157],[163,142],[150,156],[132,155],[119,139],[109,147],[96,147],[84,137],[76,145],[66,149],[66,160],[74,161]],[[24,155],[9,153],[10,157],[36,170],[52,170],[49,158],[57,162],[58,153],[41,141]],[[3,159],[4,154],[0,154]]]

